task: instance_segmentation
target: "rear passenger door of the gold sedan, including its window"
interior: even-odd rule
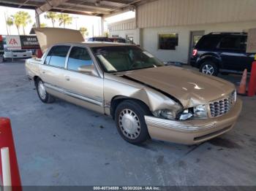
[[[44,64],[40,66],[41,78],[45,83],[48,93],[60,98],[66,98],[64,95],[64,68],[67,59],[67,53],[70,46],[54,46],[48,52]]]

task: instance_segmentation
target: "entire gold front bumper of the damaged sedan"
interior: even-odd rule
[[[148,133],[152,139],[179,144],[198,144],[231,130],[241,113],[242,101],[238,99],[225,115],[207,120],[172,121],[145,116]]]

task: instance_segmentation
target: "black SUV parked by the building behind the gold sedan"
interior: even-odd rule
[[[246,42],[246,33],[207,34],[195,45],[190,64],[214,76],[251,71],[255,54],[246,53]]]

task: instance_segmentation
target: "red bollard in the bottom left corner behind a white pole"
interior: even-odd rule
[[[21,191],[20,173],[12,137],[11,122],[8,118],[0,117],[0,148],[4,147],[9,148],[12,190]],[[0,176],[1,182],[3,182],[2,163],[0,163]]]

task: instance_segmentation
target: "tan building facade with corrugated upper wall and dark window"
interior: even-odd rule
[[[112,23],[110,36],[132,36],[162,61],[188,63],[203,34],[256,28],[256,1],[157,0],[138,6],[136,15]]]

